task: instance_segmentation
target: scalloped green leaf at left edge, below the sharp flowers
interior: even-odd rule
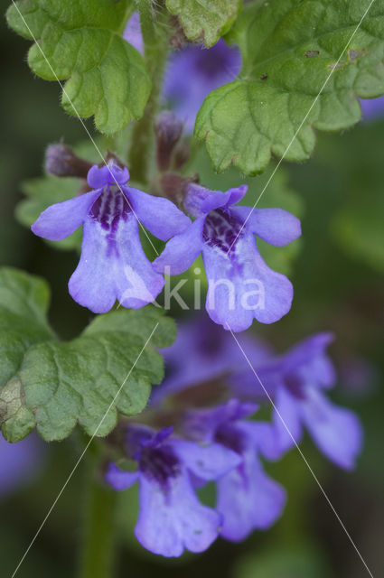
[[[61,440],[79,422],[89,435],[107,435],[117,424],[117,410],[138,414],[151,384],[162,380],[163,359],[154,348],[171,345],[174,324],[153,307],[121,309],[99,315],[79,338],[61,342],[46,321],[48,300],[48,287],[41,279],[1,270],[3,434],[18,442],[37,427],[45,440]]]

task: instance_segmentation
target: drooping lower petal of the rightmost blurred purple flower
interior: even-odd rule
[[[323,454],[345,470],[355,466],[361,452],[362,428],[357,415],[334,406],[318,389],[308,391],[303,402],[303,419]]]

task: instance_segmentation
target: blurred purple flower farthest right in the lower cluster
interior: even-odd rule
[[[353,468],[361,452],[360,421],[350,410],[333,405],[323,393],[335,379],[325,353],[331,340],[331,334],[319,333],[267,367],[258,368],[258,377],[276,405],[273,424],[265,428],[262,438],[269,459],[279,458],[299,443],[305,426],[329,460],[346,470]],[[243,381],[243,393],[244,388]]]

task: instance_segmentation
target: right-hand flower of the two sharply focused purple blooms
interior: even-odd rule
[[[212,321],[232,331],[248,329],[254,318],[278,321],[293,299],[291,282],[266,265],[255,235],[283,247],[301,234],[300,221],[286,210],[232,207],[246,191],[245,185],[226,192],[188,185],[185,209],[196,219],[154,261],[156,271],[178,275],[202,253],[207,312]]]

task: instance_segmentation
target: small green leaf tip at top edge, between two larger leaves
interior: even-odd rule
[[[185,36],[210,48],[229,31],[241,0],[167,0],[169,12],[182,24]]]

